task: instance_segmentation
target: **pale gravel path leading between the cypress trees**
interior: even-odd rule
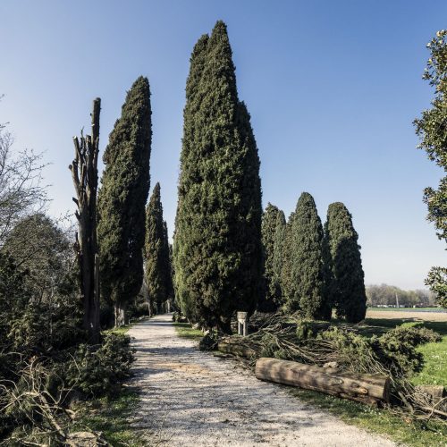
[[[235,362],[176,335],[171,315],[129,331],[141,401],[133,426],[169,446],[392,446],[258,381]],[[149,442],[148,442],[149,444]]]

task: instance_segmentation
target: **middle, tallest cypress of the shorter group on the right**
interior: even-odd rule
[[[324,303],[323,226],[308,192],[299,197],[291,232],[294,286],[286,304],[292,312],[300,309],[303,316],[317,318]]]

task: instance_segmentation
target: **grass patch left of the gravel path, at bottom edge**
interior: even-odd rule
[[[89,427],[90,430],[100,432],[108,443],[117,447],[148,445],[142,440],[139,430],[130,426],[129,418],[138,401],[136,391],[122,388],[114,398],[83,402],[73,431],[84,431]]]

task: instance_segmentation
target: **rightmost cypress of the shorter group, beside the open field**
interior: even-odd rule
[[[358,323],[367,313],[367,295],[358,245],[358,233],[352,225],[352,216],[341,203],[335,202],[327,209],[325,223],[326,274],[331,301],[337,316],[350,323]]]

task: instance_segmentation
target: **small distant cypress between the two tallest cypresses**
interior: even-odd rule
[[[160,183],[156,183],[146,208],[146,285],[149,303],[160,308],[170,292],[169,245],[167,227],[163,220]]]

